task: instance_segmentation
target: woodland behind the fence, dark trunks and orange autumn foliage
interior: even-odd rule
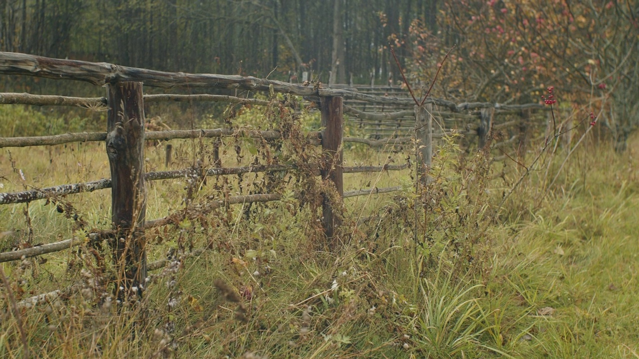
[[[525,103],[555,86],[560,107],[575,121],[594,112],[622,151],[639,123],[638,16],[634,0],[2,0],[0,50],[399,86],[391,45],[417,87],[452,49],[433,95]],[[4,80],[4,88],[59,92],[42,82]]]

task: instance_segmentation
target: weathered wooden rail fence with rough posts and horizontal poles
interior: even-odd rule
[[[259,130],[236,130],[233,128],[201,129],[201,130],[144,130],[144,103],[152,102],[227,102],[250,105],[268,105],[265,100],[254,98],[239,98],[222,95],[144,95],[144,86],[156,88],[198,88],[238,89],[246,91],[268,91],[270,93],[287,93],[304,96],[305,100],[319,104],[321,111],[321,132],[311,132],[309,143],[320,145],[323,151],[322,164],[316,174],[330,181],[334,190],[342,199],[357,195],[371,195],[377,193],[401,190],[401,187],[369,188],[366,190],[351,190],[344,192],[343,174],[355,172],[399,171],[407,165],[359,166],[345,167],[343,165],[342,144],[344,142],[362,143],[372,147],[395,144],[421,144],[417,153],[420,169],[427,169],[433,155],[433,137],[445,135],[445,131],[433,131],[433,114],[439,114],[439,119],[446,116],[457,116],[467,120],[479,119],[479,126],[466,130],[466,134],[478,134],[480,141],[485,141],[489,132],[498,126],[523,126],[523,121],[512,123],[493,123],[496,112],[521,112],[527,116],[530,109],[541,109],[541,105],[499,105],[496,103],[452,103],[437,98],[428,98],[423,106],[417,106],[408,97],[378,96],[351,91],[350,89],[328,89],[321,84],[302,86],[275,80],[242,77],[238,75],[169,73],[142,68],[112,65],[108,63],[89,63],[65,59],[50,59],[28,54],[0,52],[0,74],[30,75],[52,79],[80,80],[107,86],[108,96],[105,98],[77,98],[68,96],[31,95],[28,93],[2,93],[0,103],[20,103],[27,105],[63,105],[84,107],[107,107],[106,132],[74,133],[48,135],[39,137],[11,137],[0,138],[0,148],[24,146],[50,146],[68,142],[105,141],[106,151],[111,169],[110,179],[98,179],[87,183],[73,183],[55,187],[38,188],[22,192],[0,193],[0,204],[15,204],[36,201],[40,199],[54,199],[60,195],[92,192],[104,188],[111,188],[112,198],[112,227],[104,231],[94,231],[88,238],[72,238],[68,240],[47,243],[37,247],[23,248],[12,252],[0,253],[0,262],[15,261],[25,257],[40,256],[71,248],[88,241],[111,240],[114,258],[118,264],[121,279],[116,288],[123,288],[123,293],[129,293],[131,288],[142,291],[142,284],[147,271],[164,266],[165,261],[147,263],[146,243],[144,231],[168,224],[178,224],[183,218],[189,218],[189,211],[178,211],[164,218],[146,219],[146,198],[144,186],[147,181],[158,179],[184,178],[192,169],[174,171],[144,172],[144,141],[158,139],[198,139],[224,136],[257,137],[261,139],[282,139],[286,135],[282,132]],[[344,105],[348,100],[371,104],[387,105],[392,112],[366,112],[354,106]],[[403,109],[398,109],[403,107]],[[377,108],[377,107],[371,107]],[[436,110],[435,110],[436,108]],[[474,113],[473,113],[474,111]],[[471,112],[468,114],[468,112]],[[410,134],[406,137],[394,135],[388,138],[355,138],[344,137],[344,116],[348,114],[352,121],[360,121],[362,126],[369,125],[366,121],[395,121],[411,118]],[[437,119],[437,118],[435,118]],[[521,141],[521,136],[518,137]],[[513,141],[509,139],[509,141]],[[483,142],[480,143],[482,146]],[[224,176],[229,174],[244,174],[249,172],[291,171],[295,165],[250,165],[245,167],[210,168],[201,171],[201,176]],[[208,213],[215,208],[228,204],[278,201],[279,194],[264,193],[240,195],[224,200],[210,199],[205,208],[199,213]],[[327,247],[337,249],[341,214],[336,213],[339,207],[324,195],[323,200],[323,228],[327,238]],[[37,302],[37,300],[36,300]]]

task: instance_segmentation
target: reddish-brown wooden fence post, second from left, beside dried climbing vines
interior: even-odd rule
[[[341,97],[322,97],[320,101],[321,126],[324,128],[321,135],[321,149],[323,152],[323,164],[321,166],[321,178],[323,181],[329,180],[335,185],[340,201],[344,196],[343,179],[343,148],[342,138],[344,136],[343,123],[344,114]],[[328,247],[337,249],[338,231],[341,225],[341,213],[335,211],[341,208],[334,208],[333,205],[341,206],[341,203],[330,201],[327,194],[323,194],[322,215],[324,217],[324,233],[328,239]]]

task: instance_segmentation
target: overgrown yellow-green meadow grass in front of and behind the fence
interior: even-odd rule
[[[220,209],[149,234],[151,259],[176,249],[178,256],[153,273],[144,300],[132,306],[109,301],[111,266],[102,270],[89,247],[1,265],[19,300],[82,283],[70,298],[21,309],[33,357],[639,358],[637,142],[623,156],[604,144],[578,149],[550,188],[544,171],[530,172],[494,220],[489,209],[520,176],[518,165],[506,162],[502,178],[482,185],[470,175],[481,162],[462,166],[454,144],[444,144],[433,163],[442,177],[420,194],[432,204],[417,217],[419,246],[407,172],[345,176],[347,190],[397,183],[406,190],[347,199],[348,241],[339,254],[318,248],[316,213],[293,197],[248,212]],[[173,144],[172,168],[188,167],[199,144]],[[226,140],[224,165],[253,160],[254,144],[242,148],[244,158],[234,146]],[[147,171],[162,170],[162,148],[146,153]],[[347,165],[383,164],[389,155],[401,163],[406,155],[345,153]],[[554,176],[563,156],[540,163]],[[109,175],[103,144],[11,149],[11,160],[13,167],[3,149],[2,192]],[[199,195],[269,185],[264,176],[210,178]],[[184,187],[149,183],[147,217],[181,208]],[[65,201],[89,227],[109,226],[108,190]],[[360,215],[375,217],[355,225]],[[0,233],[10,232],[0,238],[3,250],[29,238],[27,218],[32,243],[80,231],[43,201],[0,206]],[[208,249],[181,256],[190,245]],[[2,288],[0,357],[20,358],[19,325]]]

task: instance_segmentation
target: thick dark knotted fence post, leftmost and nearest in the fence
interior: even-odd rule
[[[116,296],[142,295],[146,279],[144,217],[144,101],[142,82],[108,86],[107,155],[111,167],[111,220],[116,230]]]

